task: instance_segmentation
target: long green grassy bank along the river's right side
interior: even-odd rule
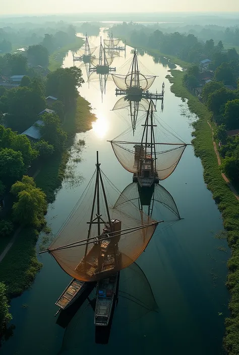
[[[228,276],[226,286],[230,292],[229,310],[230,318],[225,319],[226,333],[224,347],[229,355],[239,353],[239,203],[223,180],[217,158],[213,149],[212,133],[207,120],[210,112],[197,97],[193,96],[183,85],[184,73],[171,70],[172,77],[168,77],[173,84],[171,91],[178,97],[188,99],[190,111],[196,113],[199,120],[194,123],[195,138],[193,146],[195,155],[202,161],[204,180],[207,188],[212,192],[213,198],[222,214],[223,225],[227,231],[227,242],[231,248],[231,258],[228,260]]]

